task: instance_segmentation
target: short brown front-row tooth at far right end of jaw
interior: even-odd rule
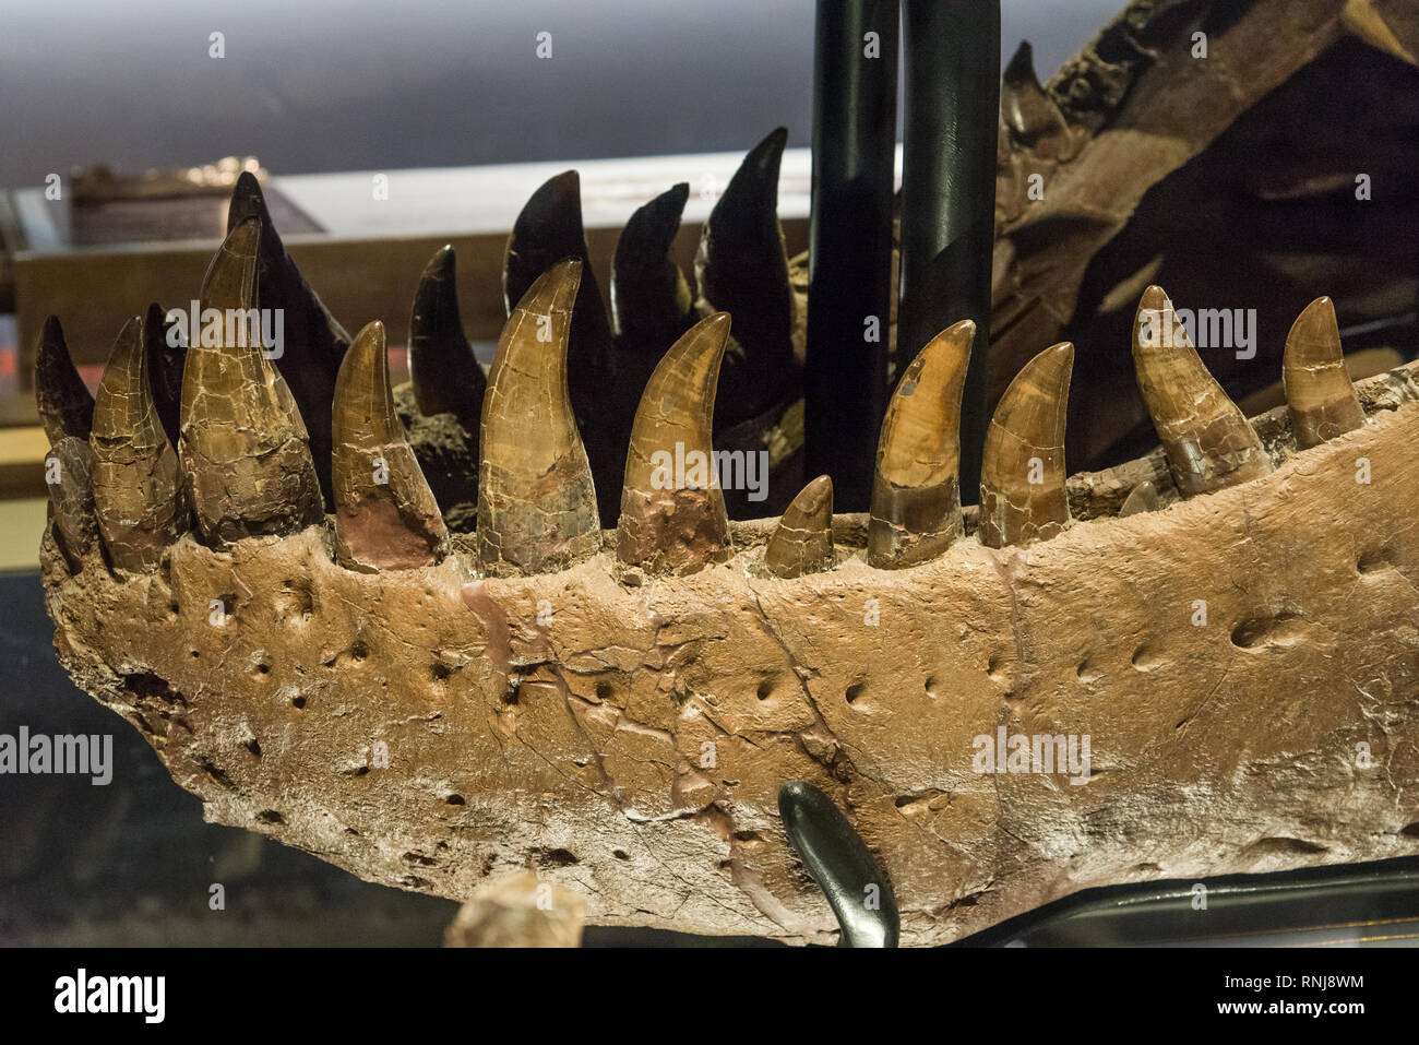
[[[1315,298],[1291,324],[1281,382],[1296,444],[1303,450],[1365,423],[1365,410],[1345,373],[1340,327],[1330,298]]]

